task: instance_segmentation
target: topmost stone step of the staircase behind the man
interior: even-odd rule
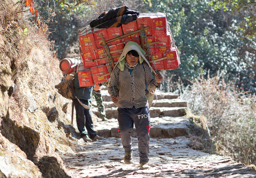
[[[101,90],[102,99],[103,101],[109,102],[112,101],[109,93],[107,90]],[[157,95],[157,97],[156,97]],[[171,92],[161,92],[159,90],[156,90],[156,95],[154,96],[154,99],[161,100],[161,99],[177,99],[179,97],[178,94],[171,93]]]

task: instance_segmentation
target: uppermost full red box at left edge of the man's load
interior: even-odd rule
[[[79,41],[83,53],[96,49],[96,44],[92,33],[79,36]]]

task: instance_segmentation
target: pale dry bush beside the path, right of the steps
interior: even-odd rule
[[[204,115],[211,137],[222,155],[256,163],[256,96],[236,91],[220,75],[195,79],[181,95],[191,112]]]

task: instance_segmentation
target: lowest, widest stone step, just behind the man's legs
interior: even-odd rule
[[[174,138],[188,135],[189,129],[194,125],[193,119],[187,117],[163,117],[152,118],[150,128],[151,138]],[[109,119],[108,121],[101,121],[95,124],[97,134],[101,137],[116,137],[119,138],[118,121],[117,119]],[[137,137],[135,127],[131,131],[132,137]]]

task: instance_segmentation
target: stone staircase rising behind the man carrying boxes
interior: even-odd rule
[[[106,109],[107,121],[95,123],[95,129],[99,136],[119,138],[118,133],[118,111],[112,102],[106,88],[102,88],[103,104]],[[188,135],[189,128],[193,127],[192,118],[185,117],[187,102],[178,98],[178,94],[156,91],[153,103],[150,107],[151,116],[151,138],[174,138]],[[156,100],[157,99],[157,100]],[[92,99],[93,105],[96,102]],[[99,115],[97,107],[92,111]],[[136,129],[133,128],[132,137],[137,137]]]

